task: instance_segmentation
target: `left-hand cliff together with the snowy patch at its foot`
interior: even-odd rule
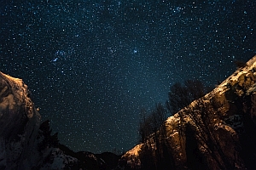
[[[27,86],[0,72],[0,169],[62,169],[78,159],[52,146],[39,150],[45,136]]]

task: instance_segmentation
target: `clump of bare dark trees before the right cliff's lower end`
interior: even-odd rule
[[[172,153],[166,141],[166,108],[162,104],[155,105],[153,111],[147,114],[141,111],[139,124],[140,141],[143,149],[140,151],[141,169],[169,169],[174,165]]]

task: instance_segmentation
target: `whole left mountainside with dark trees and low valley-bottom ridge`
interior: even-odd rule
[[[0,169],[108,170],[119,156],[73,152],[51,134],[49,121],[41,123],[27,86],[0,72]],[[105,161],[105,160],[106,161]],[[115,162],[115,164],[113,163]]]

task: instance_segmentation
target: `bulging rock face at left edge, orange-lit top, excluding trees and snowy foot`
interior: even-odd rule
[[[17,169],[30,164],[38,136],[40,115],[26,85],[0,72],[0,167]]]

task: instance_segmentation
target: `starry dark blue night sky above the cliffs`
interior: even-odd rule
[[[0,71],[75,151],[129,150],[175,82],[214,86],[256,54],[256,1],[0,0]]]

